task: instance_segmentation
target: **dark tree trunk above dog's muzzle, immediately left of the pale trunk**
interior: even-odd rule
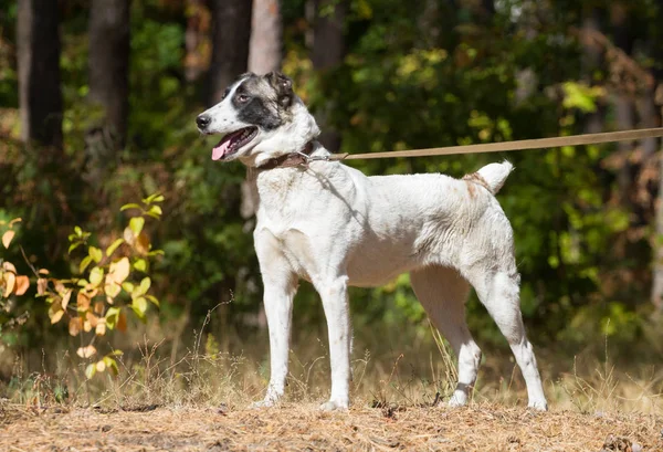
[[[218,103],[228,85],[246,72],[251,6],[250,0],[212,0],[210,104]]]

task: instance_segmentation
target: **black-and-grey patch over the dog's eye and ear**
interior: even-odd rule
[[[288,77],[271,72],[264,76],[244,74],[242,78],[230,99],[241,122],[273,130],[290,118],[294,93]]]

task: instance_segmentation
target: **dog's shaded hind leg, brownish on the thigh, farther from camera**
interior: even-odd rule
[[[465,322],[470,284],[454,269],[442,266],[413,271],[410,282],[433,325],[449,340],[459,359],[459,381],[449,404],[463,406],[474,387],[481,364],[481,349]]]

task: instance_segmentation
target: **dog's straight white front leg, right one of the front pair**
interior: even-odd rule
[[[349,406],[350,392],[350,313],[347,276],[316,284],[323,298],[327,329],[329,332],[329,356],[332,365],[332,397],[320,409],[345,410]]]

